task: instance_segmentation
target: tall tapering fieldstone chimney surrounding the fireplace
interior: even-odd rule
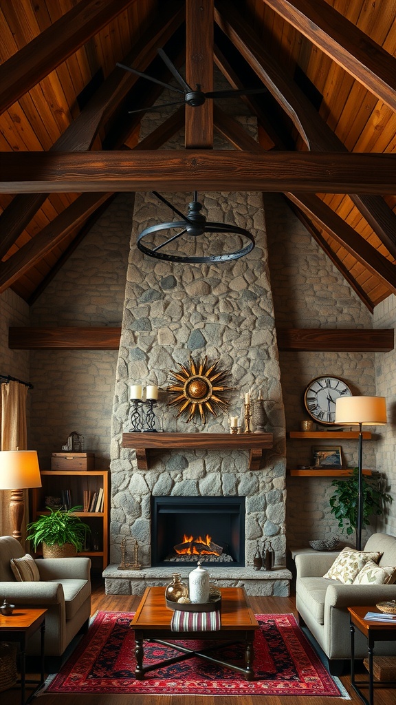
[[[185,212],[188,195],[165,194]],[[190,198],[191,200],[191,198]],[[123,326],[113,405],[111,443],[111,561],[104,572],[110,593],[141,591],[144,584],[158,584],[159,569],[130,576],[114,568],[120,562],[120,542],[139,542],[139,558],[151,565],[150,499],[154,496],[245,496],[245,579],[254,594],[288,594],[288,571],[274,580],[253,580],[253,556],[267,538],[276,551],[276,562],[285,565],[285,418],[280,388],[278,349],[273,302],[268,277],[266,233],[261,195],[258,193],[199,194],[211,221],[225,221],[249,229],[256,247],[249,255],[228,263],[179,264],[146,257],[135,246],[137,233],[156,222],[172,219],[168,208],[154,195],[137,194],[132,247],[127,273]],[[192,246],[201,247],[194,240]],[[209,244],[218,251],[218,243]],[[262,390],[273,432],[273,450],[264,453],[260,470],[248,469],[245,451],[167,450],[156,453],[147,471],[137,470],[135,453],[122,448],[128,430],[130,384],[158,384],[161,388],[156,415],[164,431],[191,433],[228,432],[227,416],[210,417],[206,425],[176,420],[166,405],[170,370],[207,355],[230,370],[230,414],[242,414],[242,400],[249,388]],[[156,571],[154,573],[154,570]],[[226,582],[240,584],[240,569]],[[148,571],[148,572],[147,572]],[[163,572],[163,571],[162,571]],[[168,575],[170,575],[168,572]],[[120,575],[121,573],[121,575]],[[254,577],[259,574],[255,573]],[[276,577],[280,580],[276,585]],[[117,578],[117,580],[116,580]],[[268,575],[266,575],[268,579]],[[228,582],[227,582],[228,581]],[[239,582],[238,582],[239,581]],[[254,585],[253,585],[254,583]],[[262,584],[262,591],[258,584]],[[161,580],[160,580],[161,584]]]

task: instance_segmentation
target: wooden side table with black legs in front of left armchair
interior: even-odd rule
[[[20,646],[20,702],[25,705],[32,699],[40,685],[44,683],[44,633],[45,615],[47,610],[27,609],[16,607],[9,617],[0,616],[0,640],[2,642],[19,642]],[[26,644],[32,634],[37,630],[41,632],[40,638],[40,659],[41,670],[40,680],[26,680],[25,653]],[[37,688],[25,701],[25,684],[37,683]]]

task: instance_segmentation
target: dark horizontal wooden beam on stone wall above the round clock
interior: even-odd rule
[[[389,353],[393,350],[393,329],[277,329],[282,352]]]

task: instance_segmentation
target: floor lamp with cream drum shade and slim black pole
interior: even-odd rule
[[[335,423],[359,426],[358,495],[356,547],[361,551],[361,525],[363,523],[363,424],[386,424],[385,397],[339,397],[335,400]]]

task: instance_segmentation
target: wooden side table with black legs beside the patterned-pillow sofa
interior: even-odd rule
[[[351,630],[351,685],[361,700],[366,705],[373,705],[374,702],[374,677],[373,677],[373,655],[375,642],[395,642],[396,654],[396,622],[377,622],[375,620],[365,620],[364,617],[368,612],[376,612],[381,615],[381,612],[376,607],[348,607],[349,624]],[[355,680],[354,673],[354,632],[355,628],[364,634],[367,639],[368,654],[369,654],[369,683],[366,681]],[[385,681],[381,681],[385,685]],[[387,685],[396,685],[396,681],[386,681]],[[361,686],[369,685],[369,699],[361,692]],[[359,687],[360,686],[360,687]]]

